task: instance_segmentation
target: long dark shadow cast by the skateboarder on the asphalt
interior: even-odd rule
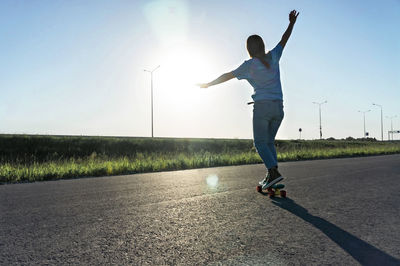
[[[362,265],[400,265],[400,260],[346,232],[327,220],[308,213],[294,200],[274,198],[276,206],[315,226]]]

